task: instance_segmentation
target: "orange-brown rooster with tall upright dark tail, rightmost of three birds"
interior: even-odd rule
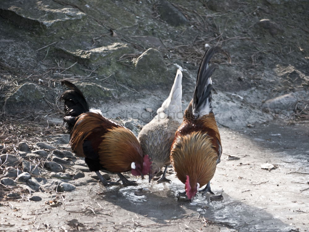
[[[196,87],[193,99],[184,111],[184,119],[175,134],[171,146],[171,163],[176,175],[185,184],[185,192],[178,196],[187,196],[193,200],[199,187],[206,184],[201,190],[214,194],[210,189],[210,180],[213,178],[216,166],[220,162],[222,146],[217,123],[211,107],[211,75],[215,66],[209,67],[211,57],[221,52],[230,55],[219,46],[205,52],[197,73]]]

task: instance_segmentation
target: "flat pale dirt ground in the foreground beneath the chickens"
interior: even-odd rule
[[[308,127],[272,122],[220,132],[224,150],[211,187],[223,200],[178,200],[184,185],[171,168],[171,184],[138,178],[137,187],[92,183],[35,193],[38,203],[26,195],[2,202],[0,231],[307,231]]]

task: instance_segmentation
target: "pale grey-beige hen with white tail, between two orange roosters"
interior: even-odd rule
[[[149,172],[149,183],[165,165],[162,177],[158,182],[171,182],[165,177],[167,166],[171,164],[171,144],[175,132],[182,120],[177,118],[182,112],[182,73],[178,69],[170,95],[157,110],[157,115],[138,134],[138,141],[141,143],[144,154],[148,154],[152,164]],[[182,113],[181,113],[182,114]]]

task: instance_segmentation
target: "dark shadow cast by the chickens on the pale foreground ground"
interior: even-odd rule
[[[141,192],[141,185],[143,186],[143,183],[138,187],[118,187],[117,191],[105,191],[101,200],[109,201],[137,215],[147,216],[161,224],[190,215],[238,231],[293,231],[289,225],[266,212],[265,208],[250,206],[242,202],[244,199],[234,199],[224,192],[223,200],[210,200],[211,195],[198,194],[190,203],[185,198],[177,199],[175,189],[183,188],[178,183],[164,184],[165,191],[160,184],[160,187],[146,188],[143,195],[135,195]],[[217,195],[221,193],[217,192]]]

